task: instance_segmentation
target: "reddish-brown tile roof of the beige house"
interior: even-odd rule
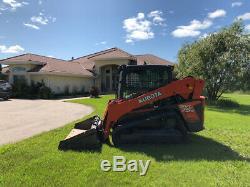
[[[0,60],[0,63],[4,64],[4,62],[8,62],[9,64],[11,62],[16,63],[28,61],[40,62],[41,64],[30,70],[30,72],[54,72],[81,76],[93,76],[91,71],[95,66],[95,60],[101,59],[131,59],[136,60],[138,65],[142,65],[144,64],[144,62],[146,62],[147,64],[173,65],[172,62],[151,54],[131,55],[126,51],[123,51],[116,47],[79,57],[70,61],[27,53]]]

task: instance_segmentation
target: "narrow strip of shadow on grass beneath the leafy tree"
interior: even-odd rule
[[[227,112],[227,113],[238,113],[242,115],[250,115],[250,105],[240,105],[237,108],[221,108],[218,106],[209,105],[207,108],[210,111],[216,112]]]

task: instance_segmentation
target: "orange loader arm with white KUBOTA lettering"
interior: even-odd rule
[[[200,84],[195,86],[196,81]],[[180,95],[183,99],[188,100],[190,94],[192,94],[195,89],[202,90],[204,87],[204,81],[196,80],[194,78],[185,78],[183,80],[177,80],[160,87],[156,90],[150,91],[148,93],[142,94],[136,98],[125,100],[116,99],[109,102],[106,113],[104,114],[104,135],[105,138],[109,136],[110,128],[117,122],[117,120],[131,112],[136,108],[140,108],[150,103],[166,99],[172,96]],[[201,94],[196,92],[197,95]],[[197,98],[198,100],[199,98]],[[201,100],[198,100],[201,103]],[[201,118],[200,118],[201,119]],[[203,123],[202,123],[203,125]],[[190,128],[191,129],[191,128]]]

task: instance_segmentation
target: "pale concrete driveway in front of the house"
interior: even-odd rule
[[[0,145],[61,127],[91,112],[91,107],[60,100],[0,101]]]

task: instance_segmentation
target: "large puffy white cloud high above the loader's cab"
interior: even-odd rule
[[[144,13],[138,13],[137,17],[125,19],[123,28],[127,32],[126,43],[154,38],[151,26],[152,23],[145,19]]]

